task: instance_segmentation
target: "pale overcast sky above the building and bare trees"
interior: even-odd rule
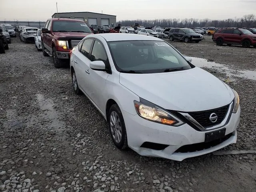
[[[240,18],[256,14],[256,0],[0,0],[0,20],[41,20],[56,12],[97,12],[116,20]]]

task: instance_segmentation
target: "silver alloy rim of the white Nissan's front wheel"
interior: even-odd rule
[[[110,114],[110,129],[115,142],[120,143],[122,139],[122,127],[118,114],[112,111]]]

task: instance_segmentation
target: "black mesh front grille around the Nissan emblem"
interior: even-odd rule
[[[189,112],[188,114],[190,114],[190,116],[192,116],[192,118],[194,118],[201,126],[203,126],[204,128],[208,128],[220,124],[224,120],[228,112],[228,107],[229,105],[226,105],[217,109],[200,112]],[[218,116],[217,121],[214,123],[210,121],[210,115],[212,113],[215,113]]]

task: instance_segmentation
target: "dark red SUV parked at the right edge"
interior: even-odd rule
[[[224,28],[214,33],[213,36],[216,45],[221,46],[226,43],[228,46],[232,44],[242,45],[243,47],[256,47],[256,34],[248,31],[247,29],[239,28]]]

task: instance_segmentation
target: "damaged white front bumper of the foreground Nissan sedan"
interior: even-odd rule
[[[197,131],[188,124],[179,127],[172,127],[158,124],[141,118],[138,115],[131,115],[122,110],[128,146],[142,156],[161,157],[171,160],[182,161],[186,158],[200,156],[219,150],[229,144],[236,143],[236,128],[240,122],[240,107],[236,114],[231,114],[229,122],[216,130],[226,128],[225,136],[228,139],[215,146],[193,152],[176,152],[182,146],[202,143],[204,144],[205,132]],[[166,145],[166,148],[155,150],[152,148],[141,147],[145,142]]]

